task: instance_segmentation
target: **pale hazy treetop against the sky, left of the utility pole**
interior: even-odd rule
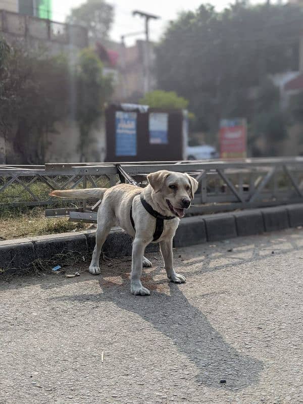
[[[88,29],[94,39],[106,39],[114,20],[114,8],[104,0],[86,0],[81,6],[72,9],[66,21]]]

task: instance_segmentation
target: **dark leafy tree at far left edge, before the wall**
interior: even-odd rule
[[[68,109],[68,64],[14,46],[0,69],[0,130],[24,163],[44,162],[46,134]],[[14,135],[12,132],[15,131]]]

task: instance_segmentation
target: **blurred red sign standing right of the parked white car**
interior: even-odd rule
[[[220,122],[219,142],[221,159],[246,157],[246,120],[223,119]]]

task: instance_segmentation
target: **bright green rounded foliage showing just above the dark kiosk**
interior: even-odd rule
[[[155,90],[147,92],[139,100],[139,104],[148,105],[150,108],[176,108],[185,110],[188,100],[179,97],[175,91]]]

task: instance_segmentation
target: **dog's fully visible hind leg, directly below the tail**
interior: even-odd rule
[[[100,207],[99,209],[102,209]],[[89,265],[89,273],[92,275],[100,275],[99,258],[103,244],[113,226],[113,215],[108,209],[102,209],[98,212],[98,224],[96,230],[96,244],[93,249],[91,262]]]

